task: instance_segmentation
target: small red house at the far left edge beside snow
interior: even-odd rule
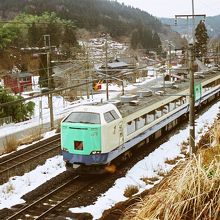
[[[32,89],[32,74],[28,72],[12,71],[3,76],[4,87],[14,93],[30,91]]]

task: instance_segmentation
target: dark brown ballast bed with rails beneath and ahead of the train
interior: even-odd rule
[[[108,176],[108,178],[99,177],[91,180],[90,177],[89,180],[85,180],[82,177],[74,176],[65,179],[65,181],[48,181],[50,183],[45,183],[45,191],[40,189],[35,195],[30,195],[29,199],[24,198],[27,201],[26,204],[6,210],[2,219],[65,219],[69,216],[72,217],[70,219],[77,219],[73,217],[73,213],[68,212],[69,208],[92,204],[93,199],[111,187],[116,179],[125,175],[128,168],[156,149],[165,139],[167,137],[164,137],[163,140],[160,139],[156,145],[153,143],[152,146],[149,145],[149,148],[143,148],[141,152],[137,150],[139,154],[136,157],[129,160],[129,163],[120,168],[119,172]],[[48,193],[48,189],[51,190],[50,193]]]

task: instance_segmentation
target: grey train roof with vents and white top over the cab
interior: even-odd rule
[[[220,79],[220,71],[214,71],[206,74],[202,74],[203,77],[195,77],[195,85],[202,84],[202,86],[208,85],[212,81]],[[164,106],[167,103],[174,101],[180,97],[187,97],[189,95],[189,79],[176,82],[176,87],[165,88],[164,95],[158,95],[157,92],[152,92],[152,96],[138,97],[134,102],[122,102],[121,100],[110,100],[109,102],[100,102],[88,105],[82,105],[74,108],[74,112],[87,111],[103,114],[112,109],[118,109],[122,117],[127,117],[134,112],[144,109],[146,112],[154,111],[160,106]],[[142,86],[141,90],[151,90],[152,86],[155,86],[155,82],[150,82],[145,86]],[[143,88],[144,87],[144,88]],[[163,90],[163,88],[161,88]],[[135,92],[132,94],[135,96]],[[147,110],[146,110],[147,109]]]

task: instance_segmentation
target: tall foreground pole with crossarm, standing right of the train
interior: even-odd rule
[[[189,45],[189,75],[190,75],[190,101],[189,101],[189,145],[190,153],[193,155],[196,152],[195,147],[195,92],[194,92],[194,49],[195,49],[195,17],[206,17],[204,14],[195,15],[194,11],[194,0],[192,0],[192,14],[191,15],[175,15],[175,24],[177,24],[177,18],[192,18],[193,27],[192,27],[192,38],[193,43]]]

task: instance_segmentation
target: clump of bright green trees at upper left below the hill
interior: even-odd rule
[[[14,22],[14,23],[13,23]],[[44,34],[51,36],[51,45],[59,46],[69,43],[72,38],[73,45],[77,45],[75,32],[67,33],[66,29],[75,29],[74,23],[57,17],[55,13],[45,12],[42,15],[20,14],[12,23],[0,25],[0,50],[9,46],[42,47]],[[69,38],[65,35],[69,34]],[[68,42],[65,42],[66,39]]]

